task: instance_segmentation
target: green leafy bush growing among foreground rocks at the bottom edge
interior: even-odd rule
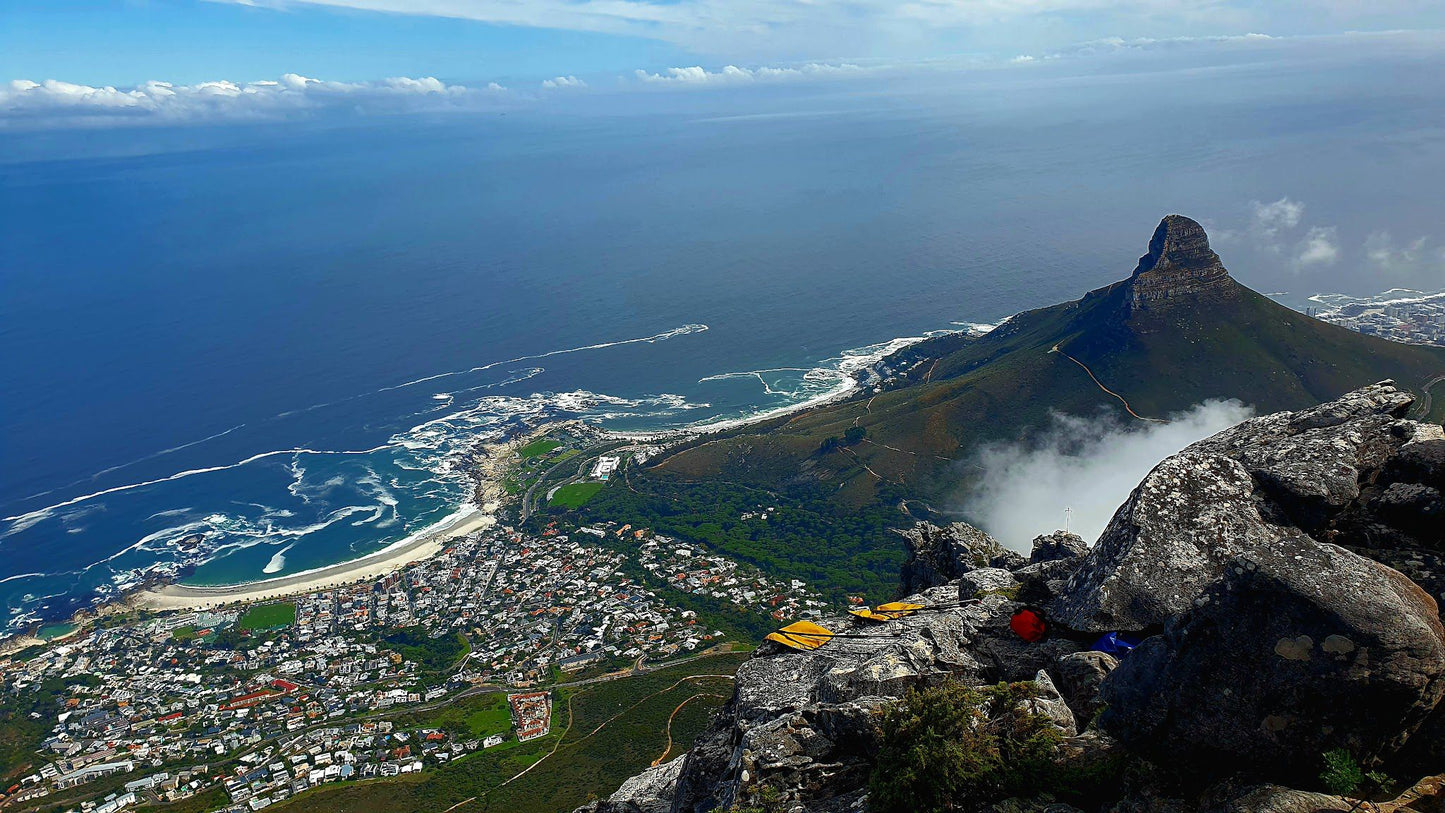
[[[972,689],[962,683],[912,692],[879,721],[879,758],[868,781],[877,813],[944,813],[1052,790],[1052,752],[1062,739],[1025,700],[1032,683]]]

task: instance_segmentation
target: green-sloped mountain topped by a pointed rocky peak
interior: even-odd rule
[[[1051,412],[1117,410],[1133,420],[1101,386],[1143,417],[1207,399],[1277,412],[1383,378],[1419,388],[1445,374],[1445,348],[1366,336],[1277,305],[1228,276],[1196,222],[1170,215],[1130,279],[1020,313],[980,338],[915,345],[889,364],[906,373],[880,393],[705,439],[655,471],[816,482],[847,505],[873,501],[886,484],[890,495],[902,488],[928,500],[968,481],[980,443],[1025,435]],[[1439,420],[1445,397],[1435,401]],[[854,426],[867,430],[861,442],[821,449]]]

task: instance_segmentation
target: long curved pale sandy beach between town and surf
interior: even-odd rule
[[[488,504],[487,508],[496,510],[496,504]],[[470,508],[458,513],[445,524],[351,562],[246,585],[218,588],[166,585],[155,591],[142,591],[133,595],[129,604],[147,609],[205,609],[370,581],[399,570],[412,562],[435,556],[445,547],[445,540],[491,527],[496,521],[491,511]]]

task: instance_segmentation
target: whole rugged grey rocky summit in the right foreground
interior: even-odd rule
[[[691,751],[581,810],[866,812],[883,709],[997,682],[1032,684],[1064,786],[932,809],[1361,810],[1321,788],[1347,752],[1399,783],[1368,810],[1445,810],[1445,433],[1410,401],[1381,383],[1195,443],[1092,546],[1056,533],[1025,559],[919,524],[906,601],[932,611],[824,619],[855,637],[808,653],[764,643]],[[1046,640],[1010,630],[1025,605]],[[1100,632],[1142,643],[1116,658]]]

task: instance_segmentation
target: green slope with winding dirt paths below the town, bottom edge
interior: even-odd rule
[[[556,813],[607,796],[623,780],[646,770],[668,751],[672,719],[675,757],[702,732],[711,713],[731,693],[727,677],[746,654],[698,658],[653,673],[597,683],[553,695],[553,734],[532,742],[497,747],[429,768],[419,775],[328,786],[277,806],[286,813]],[[689,697],[695,697],[691,699]],[[486,699],[477,699],[484,703]],[[686,705],[678,709],[686,700]],[[471,699],[418,715],[419,725],[468,725],[486,713]],[[571,712],[571,713],[569,713]],[[571,725],[569,725],[571,723]],[[510,744],[509,744],[510,745]],[[553,747],[556,752],[552,752]],[[526,775],[503,784],[527,765]]]

